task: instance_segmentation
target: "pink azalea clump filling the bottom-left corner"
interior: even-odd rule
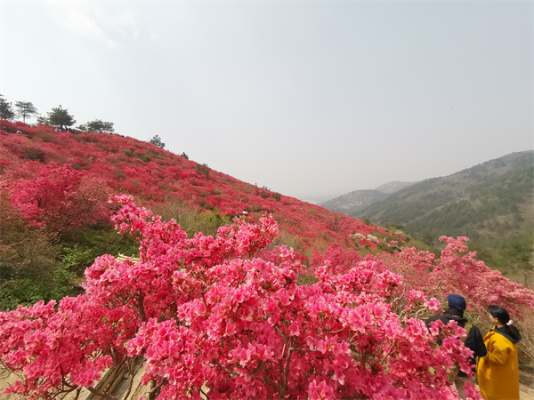
[[[100,372],[125,354],[124,340],[133,328],[124,306],[102,308],[80,295],[19,307],[0,314],[0,354],[4,367],[22,372],[5,393],[55,398],[74,388],[91,387]]]

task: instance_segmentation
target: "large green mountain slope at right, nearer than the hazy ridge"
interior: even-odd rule
[[[514,236],[534,226],[534,151],[423,180],[350,215],[433,240]]]

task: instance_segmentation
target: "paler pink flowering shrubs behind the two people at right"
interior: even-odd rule
[[[402,276],[405,293],[419,293],[425,298],[437,298],[447,304],[450,293],[460,293],[465,297],[467,313],[474,324],[481,330],[489,330],[486,320],[487,309],[491,304],[505,307],[514,317],[514,324],[522,332],[523,340],[519,343],[522,355],[527,360],[534,359],[534,292],[502,276],[500,272],[488,268],[481,260],[476,260],[476,253],[469,252],[465,242],[467,237],[441,236],[447,244],[437,258],[433,253],[418,251],[415,247],[401,248],[395,241],[386,244],[398,252],[378,253],[366,256],[362,263],[372,263],[376,271],[392,271]],[[359,254],[347,250],[338,244],[331,244],[327,252],[315,252],[312,268],[325,266],[333,273],[346,271],[357,265]],[[414,292],[415,291],[415,292]],[[420,298],[423,300],[423,297]],[[427,308],[410,311],[410,316],[428,317],[435,303],[427,302]],[[394,311],[402,313],[404,305],[395,306]]]

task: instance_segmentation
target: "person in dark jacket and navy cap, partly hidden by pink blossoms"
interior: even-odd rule
[[[483,357],[487,354],[486,345],[484,344],[481,330],[476,325],[470,324],[467,319],[464,318],[464,311],[467,305],[462,296],[459,294],[449,294],[449,296],[447,296],[447,303],[449,308],[447,308],[443,314],[431,316],[426,320],[425,324],[430,329],[430,325],[438,319],[441,320],[443,324],[449,324],[449,321],[456,321],[458,326],[461,326],[468,331],[467,337],[465,338],[465,347],[473,351],[471,364],[476,365],[476,357]],[[438,341],[438,344],[441,345],[441,342]],[[465,372],[457,372],[457,375],[454,378],[454,384],[461,399],[465,399],[465,382],[471,382],[474,384],[475,379],[474,373],[472,377],[467,377]]]

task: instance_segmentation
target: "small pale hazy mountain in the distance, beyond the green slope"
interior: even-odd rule
[[[368,190],[354,190],[346,195],[336,197],[328,202],[322,203],[328,210],[343,212],[348,215],[359,212],[369,204],[384,200],[392,193],[395,193],[402,188],[408,188],[415,182],[400,182],[394,180],[392,182],[384,183],[376,189]]]

